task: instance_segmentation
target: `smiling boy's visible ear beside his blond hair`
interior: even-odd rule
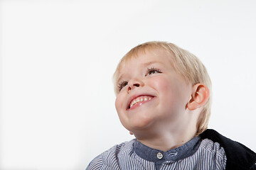
[[[206,104],[210,95],[210,91],[205,84],[195,84],[192,89],[191,100],[188,101],[188,109],[190,111],[201,108]]]

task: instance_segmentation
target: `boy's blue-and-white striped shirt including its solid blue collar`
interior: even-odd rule
[[[227,157],[218,142],[194,137],[186,144],[163,152],[136,139],[115,145],[90,162],[97,169],[225,169]]]

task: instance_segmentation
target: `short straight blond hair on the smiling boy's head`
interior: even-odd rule
[[[173,43],[161,41],[145,42],[141,45],[137,45],[136,47],[132,48],[132,50],[127,52],[127,54],[122,57],[122,60],[120,60],[119,64],[117,65],[117,69],[113,75],[114,92],[116,95],[118,94],[117,79],[119,76],[119,70],[122,68],[125,62],[134,57],[138,57],[139,54],[142,54],[142,52],[145,53],[146,50],[159,49],[169,52],[169,56],[171,57],[171,61],[173,64],[172,66],[174,67],[176,72],[178,72],[178,74],[181,74],[181,76],[183,76],[183,78],[187,82],[190,82],[193,85],[198,83],[205,84],[210,91],[209,99],[206,102],[206,105],[203,106],[196,125],[196,135],[200,135],[204,130],[208,128],[210,107],[212,103],[211,81],[206,67],[203,65],[203,63],[198,59],[198,57],[191,54],[187,50],[183,50],[182,48],[174,45]]]

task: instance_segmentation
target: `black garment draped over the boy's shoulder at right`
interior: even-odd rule
[[[202,140],[218,142],[224,148],[227,157],[226,169],[256,169],[256,154],[245,145],[230,140],[215,130],[208,129],[200,136]]]

